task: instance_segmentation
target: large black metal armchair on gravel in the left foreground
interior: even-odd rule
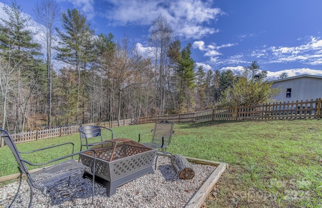
[[[32,204],[32,199],[33,199],[33,188],[44,188],[44,187],[48,187],[66,177],[69,177],[68,180],[68,186],[69,186],[69,182],[70,182],[70,176],[78,171],[84,171],[86,168],[89,168],[86,165],[83,165],[82,163],[79,163],[75,160],[73,160],[73,156],[74,155],[78,155],[79,153],[83,153],[83,152],[87,152],[87,151],[93,151],[94,152],[94,164],[93,167],[95,167],[95,162],[96,162],[96,152],[95,150],[84,150],[83,152],[77,152],[74,153],[74,144],[71,142],[68,143],[63,143],[63,144],[58,144],[58,145],[53,145],[50,147],[46,147],[46,148],[41,148],[41,149],[37,149],[37,150],[33,150],[30,152],[20,152],[18,151],[11,135],[3,129],[0,129],[1,131],[1,138],[4,139],[4,141],[6,142],[6,144],[8,145],[8,147],[11,149],[12,153],[14,154],[17,163],[18,163],[18,169],[20,172],[20,183],[19,183],[19,187],[17,190],[17,193],[14,197],[14,199],[12,200],[11,204],[9,205],[9,207],[12,206],[12,204],[14,203],[14,200],[16,199],[19,189],[21,187],[21,183],[22,183],[22,176],[23,174],[27,175],[27,182],[30,186],[30,202],[29,202],[29,207],[31,207]],[[25,159],[23,159],[21,157],[21,154],[28,154],[28,153],[35,153],[38,151],[43,151],[43,150],[48,150],[50,148],[54,148],[57,147],[59,148],[59,146],[63,146],[63,145],[72,145],[72,154],[69,155],[65,155],[53,160],[50,160],[48,162],[44,162],[44,163],[40,163],[40,164],[34,164],[31,163]],[[66,158],[71,158],[68,160],[64,160],[58,164],[54,164],[52,166],[49,167],[45,167],[39,171],[30,173],[26,167],[26,164],[28,165],[32,165],[32,166],[43,166],[43,165],[47,165],[50,164],[52,162],[56,162],[59,160],[63,160]],[[91,169],[89,168],[89,171],[91,171]],[[92,203],[94,203],[94,181],[95,181],[95,168],[93,170],[93,190],[92,190]]]

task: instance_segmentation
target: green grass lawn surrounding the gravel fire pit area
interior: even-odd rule
[[[113,128],[114,136],[138,140],[154,124]],[[229,168],[208,195],[204,207],[322,207],[322,121],[245,121],[175,124],[168,151],[174,154],[225,162]],[[148,138],[144,138],[148,141]],[[79,135],[18,144],[28,151]],[[32,155],[34,161],[67,154]],[[17,173],[8,147],[0,148],[0,176]]]

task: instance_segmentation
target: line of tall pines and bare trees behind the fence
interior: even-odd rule
[[[239,76],[196,68],[191,44],[181,45],[163,15],[153,22],[143,54],[126,35],[97,35],[83,14],[60,12],[54,0],[35,5],[38,31],[30,29],[30,17],[16,2],[4,11],[0,121],[11,132],[243,105],[232,101],[245,100],[232,96],[240,80],[266,86],[270,93],[256,101],[275,93],[256,61]]]

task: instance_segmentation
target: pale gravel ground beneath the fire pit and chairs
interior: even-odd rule
[[[95,184],[92,204],[92,182],[82,173],[44,189],[34,189],[32,207],[184,207],[203,182],[216,168],[211,165],[192,164],[195,177],[179,179],[169,157],[160,156],[154,174],[145,174],[116,189],[111,197],[106,188]],[[153,165],[154,167],[154,165]],[[8,207],[17,192],[18,182],[0,187],[0,207]],[[13,207],[28,207],[30,188],[23,180]]]

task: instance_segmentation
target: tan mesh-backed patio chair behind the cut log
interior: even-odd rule
[[[167,152],[167,147],[171,143],[172,135],[174,135],[175,131],[173,130],[174,123],[170,123],[168,121],[160,121],[156,122],[154,125],[154,129],[152,129],[149,132],[143,132],[139,134],[139,141],[141,141],[141,135],[142,134],[149,134],[152,133],[152,140],[149,143],[142,143],[143,145],[150,147],[150,148],[156,148],[160,149],[162,151],[161,154],[158,154],[155,158],[155,167],[156,169],[156,161],[158,156],[165,155],[165,154],[171,154],[170,152]],[[172,155],[172,154],[171,154]]]

